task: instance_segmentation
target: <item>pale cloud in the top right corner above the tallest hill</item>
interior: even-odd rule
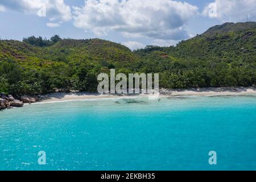
[[[223,22],[256,20],[256,0],[215,0],[205,7],[203,14]]]

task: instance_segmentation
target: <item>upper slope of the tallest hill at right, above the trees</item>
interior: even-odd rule
[[[175,56],[208,61],[255,63],[256,23],[225,23],[182,42]]]

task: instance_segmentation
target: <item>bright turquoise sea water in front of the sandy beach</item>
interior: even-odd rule
[[[255,96],[133,100],[1,111],[0,170],[256,170]]]

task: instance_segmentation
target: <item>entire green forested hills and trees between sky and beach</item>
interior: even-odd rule
[[[0,92],[16,96],[97,89],[97,75],[160,73],[160,86],[251,86],[256,82],[256,23],[225,23],[176,47],[131,52],[101,39],[0,40]]]

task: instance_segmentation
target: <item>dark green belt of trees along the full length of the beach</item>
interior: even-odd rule
[[[143,61],[142,61],[143,62]],[[139,65],[139,64],[138,64]],[[45,94],[49,92],[79,90],[96,92],[97,75],[114,68],[106,61],[90,63],[51,61],[41,67],[20,66],[12,59],[0,61],[0,92],[14,96]],[[220,62],[206,67],[193,67],[179,62],[147,62],[136,68],[117,68],[117,73],[160,73],[162,88],[195,88],[216,86],[251,86],[256,83],[256,69],[252,65],[232,67]]]

